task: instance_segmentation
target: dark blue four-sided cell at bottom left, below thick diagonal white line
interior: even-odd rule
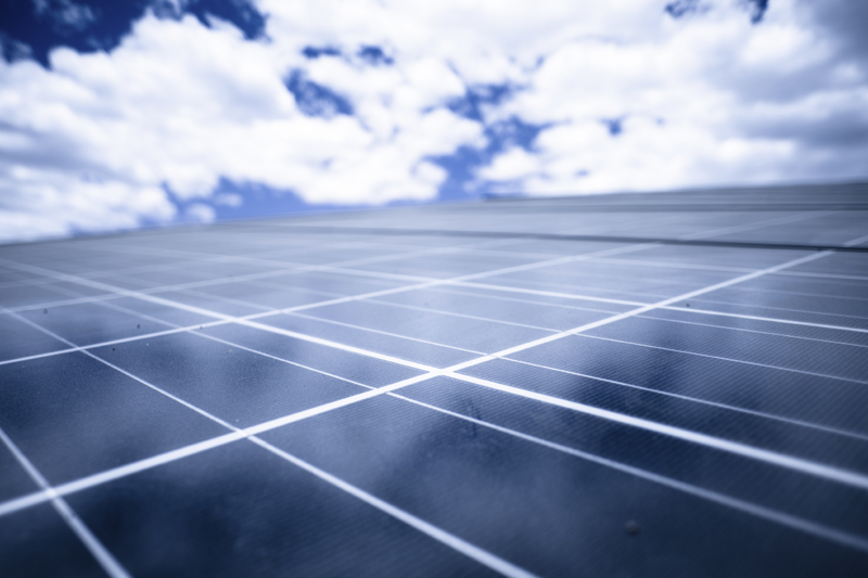
[[[492,574],[248,441],[68,501],[135,576]]]

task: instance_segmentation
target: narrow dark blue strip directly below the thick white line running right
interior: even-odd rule
[[[820,476],[444,377],[410,386],[406,394],[396,395],[604,457],[693,488],[762,503],[774,511],[855,535],[868,535],[868,521],[858,514],[868,508],[865,492]]]

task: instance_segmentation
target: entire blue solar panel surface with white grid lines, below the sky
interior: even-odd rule
[[[0,247],[0,575],[868,575],[868,187]]]

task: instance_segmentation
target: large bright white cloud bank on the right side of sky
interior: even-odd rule
[[[508,151],[481,178],[558,194],[868,176],[865,72],[796,9],[771,2],[753,26],[719,2],[649,20],[644,38],[564,43],[501,111],[548,125],[535,153]],[[607,119],[621,120],[617,134]]]

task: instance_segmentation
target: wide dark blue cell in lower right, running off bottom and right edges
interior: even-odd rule
[[[800,531],[394,398],[263,437],[540,575],[868,568]]]

